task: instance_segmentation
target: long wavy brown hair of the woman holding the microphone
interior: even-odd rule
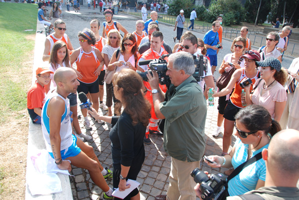
[[[132,118],[132,124],[139,122],[144,126],[149,125],[151,105],[143,96],[141,90],[143,81],[141,76],[131,69],[116,72],[112,78],[114,90],[122,90],[122,103],[124,111]]]

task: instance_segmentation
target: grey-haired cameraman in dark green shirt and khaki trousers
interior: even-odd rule
[[[166,94],[158,86],[158,74],[147,75],[155,114],[165,119],[163,147],[171,156],[167,196],[159,195],[156,200],[196,200],[190,172],[200,165],[204,153],[207,107],[194,72],[192,55],[177,52],[169,56],[166,75],[171,84]]]

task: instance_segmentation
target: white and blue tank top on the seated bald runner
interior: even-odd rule
[[[61,137],[61,143],[60,143],[60,151],[69,148],[72,143],[72,125],[70,120],[70,101],[69,99],[64,99],[62,96],[57,94],[56,90],[49,91],[45,98],[45,104],[41,111],[41,128],[42,128],[42,134],[45,140],[46,149],[48,152],[52,152],[51,148],[51,142],[50,142],[50,124],[49,124],[49,116],[47,115],[47,109],[49,105],[49,101],[53,97],[60,97],[65,102],[65,111],[61,116],[61,124],[60,124],[60,137]]]

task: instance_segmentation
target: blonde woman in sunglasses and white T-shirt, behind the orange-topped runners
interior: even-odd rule
[[[104,62],[106,67],[108,68],[108,65],[110,63],[110,60],[116,50],[120,48],[121,45],[121,34],[118,30],[112,29],[108,33],[108,41],[107,44],[103,47],[102,53],[104,55]],[[109,71],[107,69],[106,73]],[[107,84],[106,83],[106,105],[108,106],[108,116],[112,116],[112,100],[114,101],[114,104],[118,106],[120,102],[118,102],[115,97],[113,96],[113,85],[112,83]],[[120,104],[120,107],[122,105]],[[119,109],[118,109],[119,110]]]

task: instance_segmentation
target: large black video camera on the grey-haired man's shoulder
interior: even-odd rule
[[[170,79],[168,76],[166,76],[167,71],[167,61],[165,60],[165,57],[170,56],[170,54],[164,54],[159,59],[154,60],[145,60],[139,62],[139,65],[149,65],[149,72],[152,75],[151,71],[157,72],[159,76],[159,83],[161,85],[166,85],[167,88],[170,85]],[[194,65],[195,65],[195,72],[193,74],[193,77],[196,79],[197,82],[201,80],[201,78],[204,77],[204,73],[207,73],[207,64],[208,60],[203,55],[200,55],[199,58],[196,58],[195,55],[192,55],[194,59]],[[148,81],[148,71],[141,72],[137,71],[137,73],[142,77],[144,81]]]

